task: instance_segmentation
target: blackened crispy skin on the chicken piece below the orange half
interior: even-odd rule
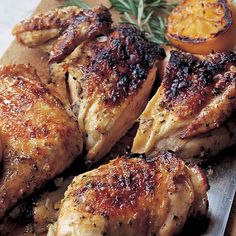
[[[170,54],[161,105],[183,120],[196,117],[182,137],[218,127],[235,109],[236,53],[216,53],[203,59],[181,51]],[[214,101],[215,106],[211,105]]]

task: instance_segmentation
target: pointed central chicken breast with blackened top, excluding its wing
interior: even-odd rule
[[[81,44],[60,65],[68,74],[67,97],[84,132],[88,161],[103,157],[134,124],[164,56],[134,26],[119,25]]]

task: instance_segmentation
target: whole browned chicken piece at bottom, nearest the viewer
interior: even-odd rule
[[[73,180],[48,235],[176,235],[206,214],[207,190],[205,174],[172,153],[125,155]]]

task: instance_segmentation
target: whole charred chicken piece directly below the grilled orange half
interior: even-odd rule
[[[236,53],[171,50],[163,81],[140,117],[133,152],[172,150],[185,159],[236,143]]]

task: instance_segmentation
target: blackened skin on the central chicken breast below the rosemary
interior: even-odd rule
[[[101,41],[85,43],[80,54],[69,67],[83,71],[83,96],[98,92],[107,106],[136,94],[154,63],[165,57],[131,25],[118,25]]]

